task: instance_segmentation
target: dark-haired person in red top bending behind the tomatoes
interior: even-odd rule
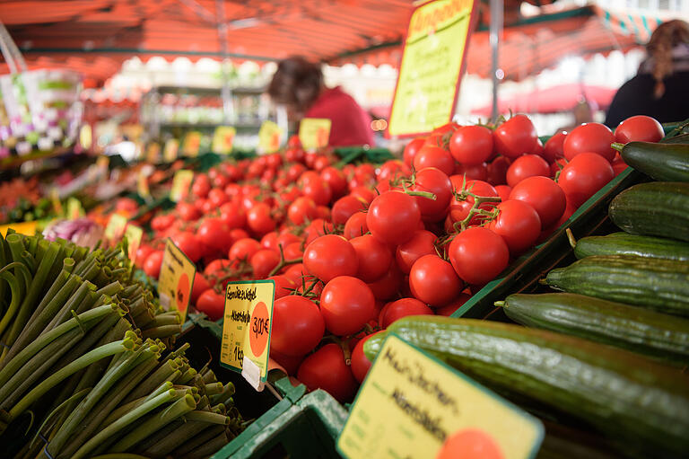
[[[303,57],[284,59],[268,85],[268,94],[285,106],[291,121],[330,119],[330,146],[373,145],[371,117],[339,86],[328,88],[318,64]]]

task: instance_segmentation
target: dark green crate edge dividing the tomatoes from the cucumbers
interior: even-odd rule
[[[570,228],[577,237],[583,237],[595,227],[586,226],[591,224],[600,225],[607,217],[607,203],[620,191],[630,187],[632,184],[642,180],[643,174],[628,167],[618,174],[605,187],[598,190],[595,195],[581,205],[572,216],[563,223],[554,234],[544,243],[536,245],[534,249],[514,260],[512,264],[503,271],[499,278],[486,284],[474,296],[461,305],[451,317],[467,317],[483,319],[486,313],[494,310],[495,301],[504,299],[504,296],[522,278],[540,275],[544,270],[544,261],[548,256],[564,256],[571,246],[567,238],[566,230]],[[602,213],[600,211],[603,211]],[[547,267],[545,267],[547,268]],[[547,270],[547,269],[545,269]],[[537,272],[535,272],[537,271]]]

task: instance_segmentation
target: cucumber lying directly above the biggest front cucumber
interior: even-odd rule
[[[499,302],[511,320],[689,364],[689,320],[571,293],[510,295]],[[497,305],[497,303],[496,303]]]

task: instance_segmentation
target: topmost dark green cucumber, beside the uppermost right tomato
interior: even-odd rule
[[[629,142],[620,153],[624,163],[657,181],[689,182],[689,145]]]

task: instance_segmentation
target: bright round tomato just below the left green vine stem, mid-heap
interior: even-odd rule
[[[371,234],[391,245],[406,243],[420,223],[421,210],[416,199],[400,191],[386,191],[373,199],[366,214]]]

